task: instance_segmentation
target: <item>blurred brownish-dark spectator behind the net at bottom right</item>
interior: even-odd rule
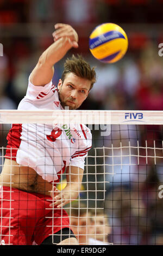
[[[151,230],[145,206],[135,190],[116,187],[108,194],[105,209],[112,227],[109,241],[114,245],[139,245],[145,231]]]

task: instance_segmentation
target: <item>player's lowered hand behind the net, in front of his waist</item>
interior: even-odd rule
[[[53,198],[54,203],[51,203],[49,207],[60,209],[62,206],[70,203],[70,201],[76,200],[78,192],[68,190],[67,188],[59,190],[53,186],[51,197]]]

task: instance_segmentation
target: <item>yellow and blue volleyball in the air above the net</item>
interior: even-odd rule
[[[89,38],[92,55],[101,62],[114,63],[127,52],[128,38],[124,30],[114,23],[103,23],[93,29]]]

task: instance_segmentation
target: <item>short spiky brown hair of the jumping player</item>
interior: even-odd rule
[[[91,69],[90,64],[85,61],[82,55],[74,56],[67,58],[64,64],[64,71],[61,75],[61,80],[64,82],[66,74],[74,73],[79,76],[79,78],[84,78],[91,81],[90,90],[93,87],[93,84],[96,82],[96,72],[95,67]]]

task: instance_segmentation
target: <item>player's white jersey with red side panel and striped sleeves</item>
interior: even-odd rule
[[[18,110],[58,109],[63,108],[52,81],[45,86],[29,81]],[[84,124],[12,124],[7,139],[5,157],[30,166],[48,182],[57,181],[68,165],[84,169],[92,144],[90,129]]]

